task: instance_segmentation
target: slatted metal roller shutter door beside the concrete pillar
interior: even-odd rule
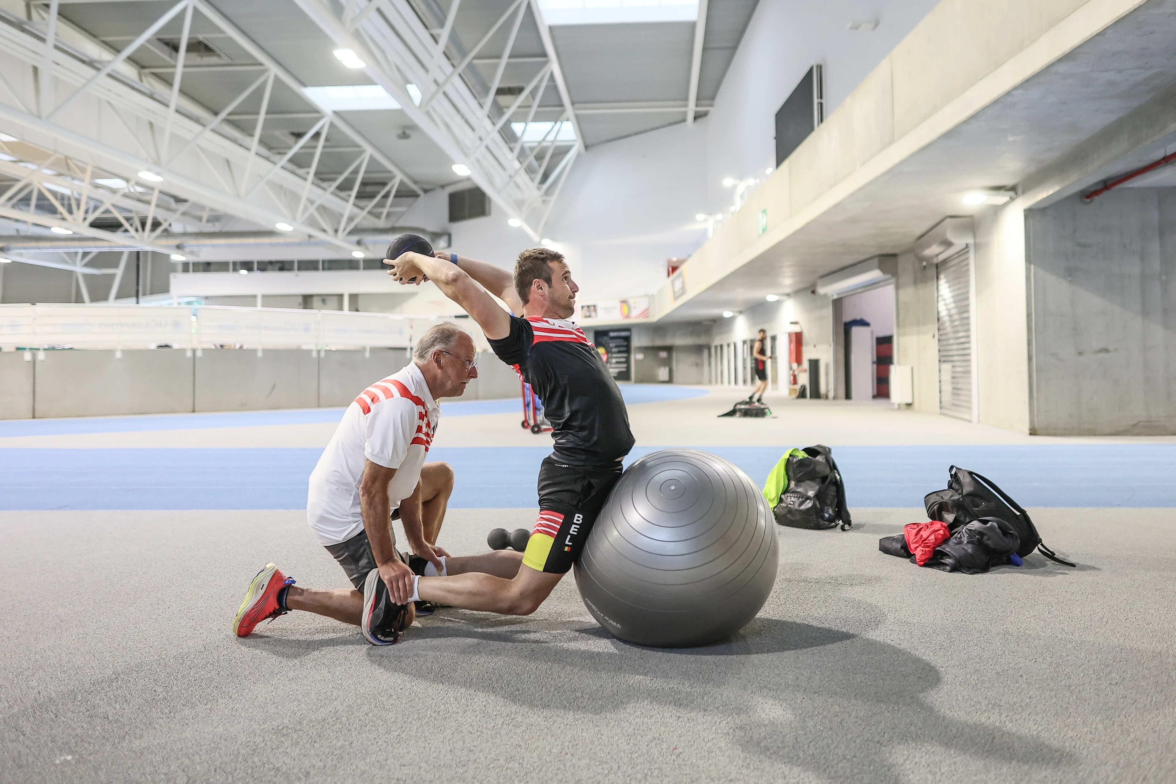
[[[971,422],[971,248],[935,268],[940,413]]]

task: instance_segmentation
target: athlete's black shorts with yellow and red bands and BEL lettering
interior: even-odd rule
[[[543,458],[539,468],[539,517],[523,564],[563,575],[580,557],[588,531],[621,478],[621,461],[609,465],[563,465]]]

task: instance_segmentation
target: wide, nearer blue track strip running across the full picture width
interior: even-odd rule
[[[635,449],[627,462],[655,451]],[[775,447],[707,447],[762,485]],[[0,509],[302,509],[319,449],[0,449]],[[543,447],[439,448],[450,507],[537,505]],[[921,507],[951,463],[1025,507],[1176,507],[1176,444],[837,447],[850,507]]]

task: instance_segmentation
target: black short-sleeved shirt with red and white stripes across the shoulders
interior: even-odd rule
[[[629,414],[616,382],[583,330],[570,321],[510,316],[510,334],[490,348],[543,402],[567,465],[607,465],[633,449]]]

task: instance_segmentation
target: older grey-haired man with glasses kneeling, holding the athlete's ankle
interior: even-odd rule
[[[354,590],[300,588],[273,563],[253,578],[233,619],[247,637],[266,618],[305,610],[352,623],[373,645],[395,643],[426,603],[396,604],[389,591],[408,595],[417,575],[480,571],[514,577],[517,552],[450,558],[436,545],[453,469],[426,463],[441,409],[439,397],[457,397],[477,377],[474,341],[452,323],[430,328],[413,361],[375,382],[347,407],[310,474],[307,521],[314,536],[343,568]],[[392,520],[399,517],[413,555],[396,550]]]

